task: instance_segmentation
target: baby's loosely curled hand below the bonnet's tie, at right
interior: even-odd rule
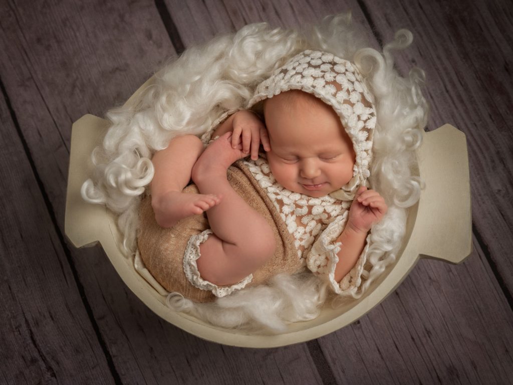
[[[381,221],[387,212],[387,205],[378,191],[360,187],[349,209],[346,227],[358,233],[367,233],[373,224]]]

